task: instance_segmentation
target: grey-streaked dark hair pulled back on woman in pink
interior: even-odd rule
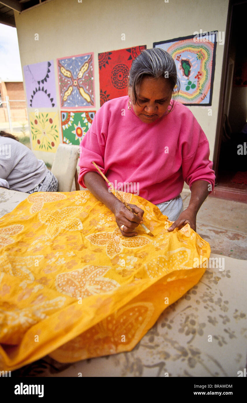
[[[145,76],[164,77],[169,81],[174,99],[180,90],[176,64],[169,53],[161,48],[143,50],[132,62],[129,73],[129,87],[133,90],[133,102],[137,102],[137,85]],[[173,107],[172,107],[173,109]]]

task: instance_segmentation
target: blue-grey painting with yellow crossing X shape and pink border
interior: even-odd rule
[[[93,54],[57,59],[61,108],[95,106]]]

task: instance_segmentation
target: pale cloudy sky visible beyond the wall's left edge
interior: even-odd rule
[[[23,81],[16,28],[0,24],[0,81]]]

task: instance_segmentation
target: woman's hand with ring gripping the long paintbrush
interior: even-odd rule
[[[121,234],[125,237],[134,237],[138,235],[134,231],[134,229],[139,224],[143,223],[144,211],[141,208],[137,207],[135,204],[129,204],[129,206],[132,208],[135,214],[129,211],[124,204],[120,203],[117,204],[116,208],[114,209],[114,216],[116,223],[118,224],[118,227],[121,231]]]

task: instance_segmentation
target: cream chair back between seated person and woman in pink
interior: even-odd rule
[[[80,190],[76,169],[79,153],[79,145],[59,144],[57,147],[51,172],[57,178],[58,192],[70,192],[74,179],[76,190]]]

